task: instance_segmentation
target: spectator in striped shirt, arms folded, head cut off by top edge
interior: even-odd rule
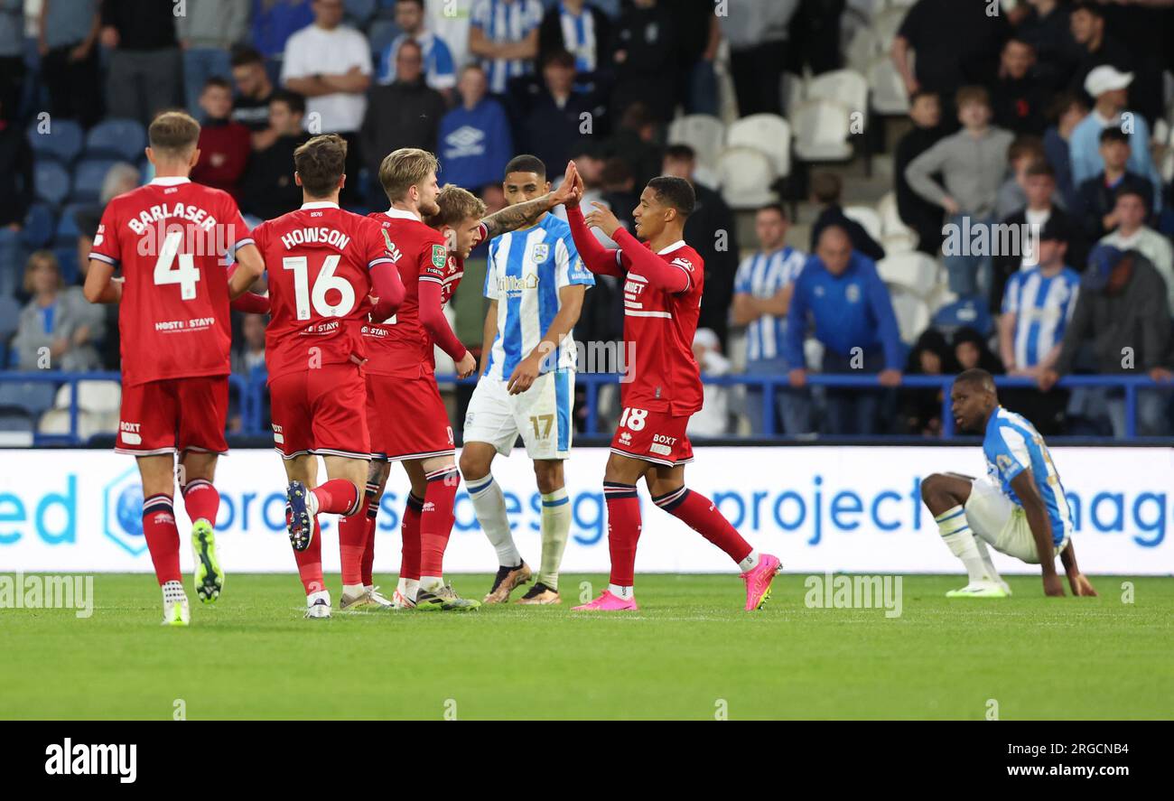
[[[538,0],[477,0],[470,13],[468,51],[481,56],[490,92],[502,94],[510,79],[531,74],[538,56],[542,4]]]

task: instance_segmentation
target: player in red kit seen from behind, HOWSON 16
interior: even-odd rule
[[[360,329],[372,311],[371,296],[380,318],[393,315],[404,299],[383,229],[338,208],[345,164],[346,141],[337,134],[298,147],[294,180],[302,187],[302,208],[252,233],[269,270],[272,317],[265,331],[265,366],[274,443],[290,479],[290,543],[308,618],[330,617],[317,516],[366,519],[360,512],[371,443]],[[317,485],[319,456],[329,480]],[[356,578],[362,547],[343,544],[340,550],[342,608],[390,606]]]

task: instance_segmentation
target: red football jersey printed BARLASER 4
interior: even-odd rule
[[[232,343],[224,254],[252,242],[228,193],[155,179],[112,200],[89,257],[122,267],[127,386],[225,376]]]

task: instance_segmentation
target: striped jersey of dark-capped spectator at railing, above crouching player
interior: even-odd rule
[[[1038,267],[1019,270],[1007,280],[1003,312],[1016,315],[1016,364],[1033,368],[1064,339],[1080,292],[1080,274],[1064,268],[1047,277]]]

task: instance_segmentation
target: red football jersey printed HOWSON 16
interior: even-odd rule
[[[366,349],[360,329],[371,311],[370,270],[392,263],[380,228],[333,203],[315,202],[257,226],[252,236],[269,274],[270,381],[304,372],[311,361],[362,361]]]

